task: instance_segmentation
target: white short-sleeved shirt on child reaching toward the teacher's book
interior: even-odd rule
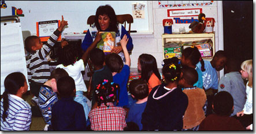
[[[64,66],[60,64],[60,65],[57,65],[56,68],[65,69],[68,75],[75,80],[76,91],[83,91],[83,92],[87,91],[86,84],[84,83],[83,75],[81,74],[81,71],[85,69],[83,59],[79,59],[79,61],[76,61],[75,64],[73,65]]]

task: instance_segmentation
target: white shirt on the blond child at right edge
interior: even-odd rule
[[[253,113],[253,88],[248,86],[248,82],[246,84],[246,104],[243,107],[244,114],[252,114]]]

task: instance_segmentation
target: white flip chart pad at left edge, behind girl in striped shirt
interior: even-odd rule
[[[13,72],[23,73],[28,83],[27,65],[20,23],[1,24],[1,95],[5,91],[5,77]]]

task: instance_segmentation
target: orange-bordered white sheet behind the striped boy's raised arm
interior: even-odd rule
[[[36,35],[41,42],[46,42],[53,32],[60,26],[60,20],[40,21],[36,23]],[[57,39],[61,40],[61,35]]]

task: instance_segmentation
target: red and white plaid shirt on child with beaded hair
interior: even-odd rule
[[[109,107],[107,107],[109,106]],[[126,111],[123,107],[116,107],[113,103],[101,104],[99,108],[92,109],[88,115],[91,129],[94,131],[123,131]]]

